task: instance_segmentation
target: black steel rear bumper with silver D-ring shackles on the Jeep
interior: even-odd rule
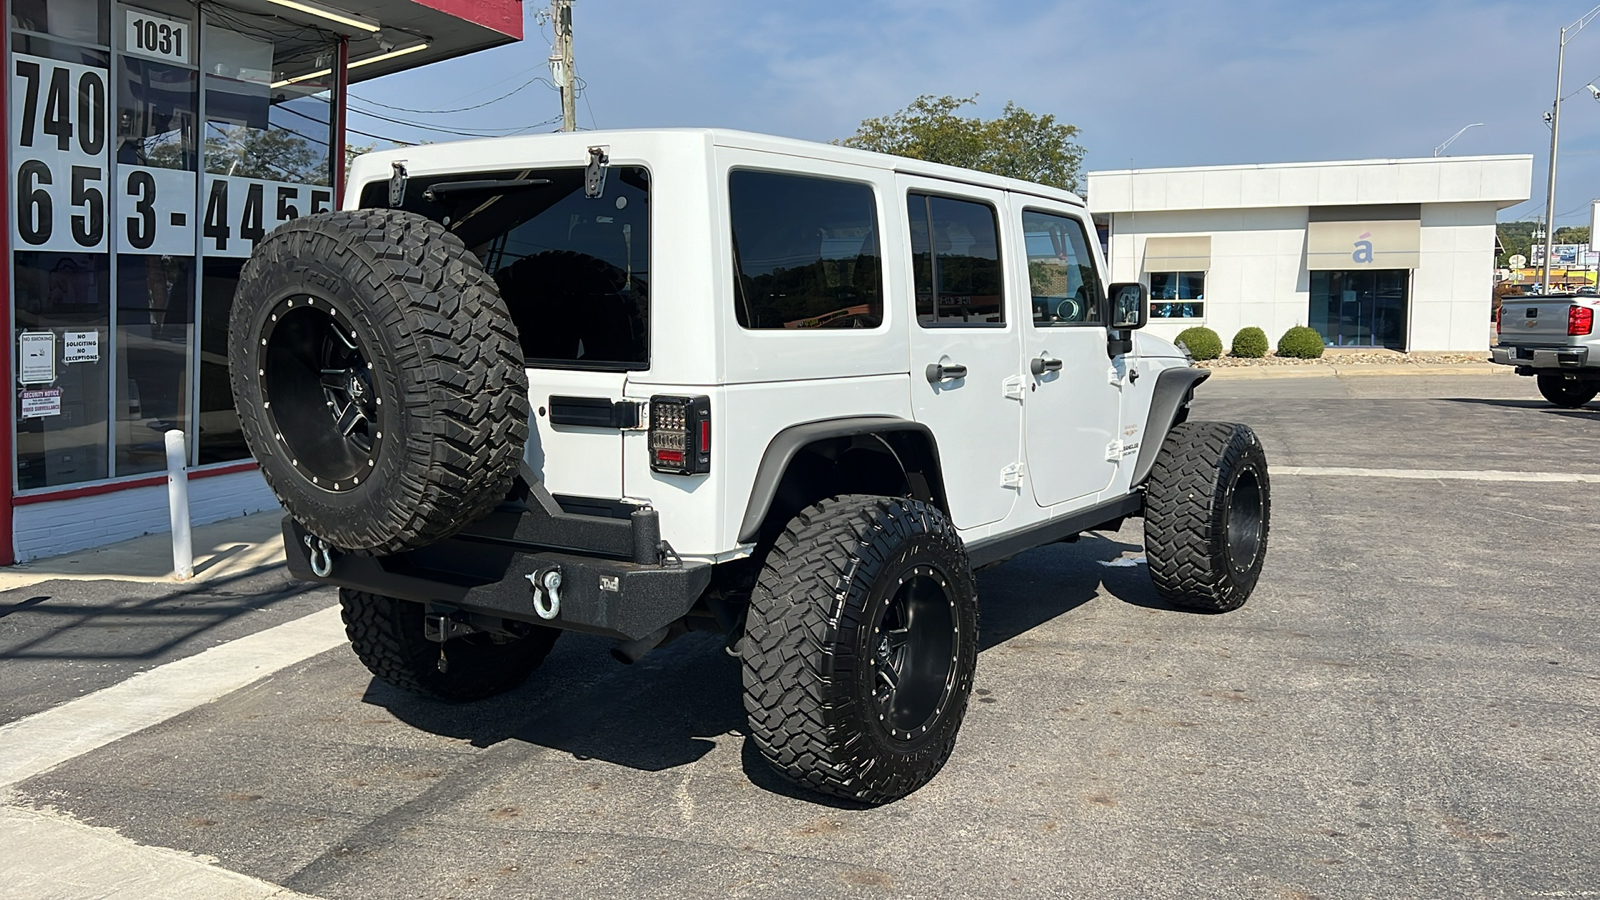
[[[307,538],[294,519],[283,517],[288,567],[304,581],[629,641],[683,618],[712,575],[709,564],[638,564],[458,535],[395,556],[333,551],[328,575],[318,577]],[[536,609],[533,580],[550,570],[562,573],[562,588],[555,615],[546,618]]]

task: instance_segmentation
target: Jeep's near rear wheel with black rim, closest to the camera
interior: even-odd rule
[[[978,596],[955,527],[915,500],[845,495],[795,516],[744,631],[750,737],[789,780],[882,804],[955,746]]]

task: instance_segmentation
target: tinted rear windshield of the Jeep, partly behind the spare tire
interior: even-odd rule
[[[362,189],[389,205],[389,181]],[[528,365],[648,368],[650,173],[611,167],[411,178],[402,208],[442,223],[494,277]]]

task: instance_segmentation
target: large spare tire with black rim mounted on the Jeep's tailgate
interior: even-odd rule
[[[267,484],[344,551],[461,530],[504,500],[528,440],[506,303],[456,235],[414,213],[274,231],[240,274],[229,368]]]

